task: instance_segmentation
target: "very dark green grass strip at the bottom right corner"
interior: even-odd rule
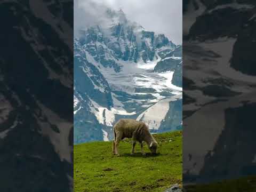
[[[204,185],[188,185],[185,188],[187,192],[256,192],[256,176],[223,180]]]

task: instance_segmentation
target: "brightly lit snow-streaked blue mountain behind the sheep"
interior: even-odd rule
[[[110,140],[119,118],[181,129],[182,46],[106,9],[74,38],[74,142]]]

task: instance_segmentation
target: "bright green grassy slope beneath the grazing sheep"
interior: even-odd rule
[[[153,156],[139,143],[134,155],[130,140],[122,141],[121,157],[111,153],[112,142],[74,146],[74,191],[164,191],[182,179],[182,132],[154,134],[159,143]]]

